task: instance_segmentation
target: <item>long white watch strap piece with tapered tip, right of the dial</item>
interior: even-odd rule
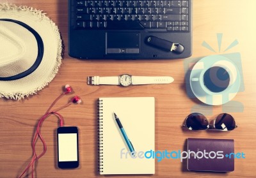
[[[170,84],[173,81],[174,81],[174,79],[172,77],[132,76],[132,85]]]

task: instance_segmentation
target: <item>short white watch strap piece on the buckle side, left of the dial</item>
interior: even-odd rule
[[[119,85],[118,77],[92,77],[92,85]]]

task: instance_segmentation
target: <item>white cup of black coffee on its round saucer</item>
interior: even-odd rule
[[[218,55],[200,59],[191,70],[189,79],[195,96],[209,105],[221,105],[232,100],[240,84],[235,64]]]

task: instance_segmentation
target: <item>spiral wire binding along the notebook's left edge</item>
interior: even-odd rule
[[[98,100],[98,172],[103,172],[103,106],[102,100]]]

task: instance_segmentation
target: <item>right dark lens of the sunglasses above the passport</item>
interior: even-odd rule
[[[223,113],[216,117],[214,127],[218,130],[234,130],[236,122],[232,115]]]

